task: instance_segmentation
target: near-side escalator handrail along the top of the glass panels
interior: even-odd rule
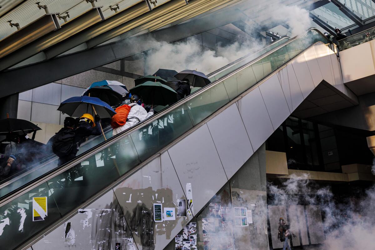
[[[61,174],[65,171],[67,171],[68,169],[73,168],[78,163],[82,162],[83,160],[89,158],[90,156],[93,156],[94,154],[100,152],[104,148],[107,148],[108,146],[114,144],[115,142],[125,138],[126,136],[135,132],[136,130],[138,130],[142,126],[147,125],[149,123],[152,123],[154,120],[162,117],[163,115],[167,114],[169,111],[172,111],[173,109],[177,108],[178,106],[183,105],[184,103],[186,103],[187,101],[189,101],[189,100],[193,99],[194,97],[198,96],[199,94],[201,94],[205,90],[208,90],[208,89],[214,87],[216,84],[219,84],[220,82],[224,81],[225,79],[229,78],[230,76],[232,76],[232,75],[236,74],[237,72],[241,71],[243,68],[248,67],[249,65],[251,65],[255,61],[261,60],[264,57],[266,57],[267,55],[272,54],[273,52],[277,51],[279,48],[281,48],[283,46],[286,46],[287,44],[293,42],[294,40],[298,39],[299,37],[302,37],[303,35],[307,34],[311,30],[315,30],[316,32],[321,34],[321,36],[326,38],[326,36],[324,36],[324,34],[321,31],[319,31],[317,28],[309,28],[305,33],[300,34],[299,36],[293,37],[292,39],[288,40],[287,42],[282,43],[281,45],[279,45],[279,46],[273,48],[272,50],[266,52],[265,54],[255,58],[254,60],[249,61],[245,65],[235,69],[234,71],[228,73],[227,75],[223,76],[222,78],[211,82],[209,85],[195,91],[194,93],[190,94],[189,96],[185,97],[184,99],[179,100],[178,102],[174,103],[173,105],[169,106],[168,108],[164,109],[163,111],[159,112],[158,114],[153,115],[153,116],[147,118],[146,120],[136,124],[135,126],[129,128],[128,130],[125,130],[124,132],[122,132],[122,133],[120,133],[116,136],[111,137],[107,141],[104,141],[104,142],[96,145],[91,150],[86,151],[86,153],[81,154],[80,156],[76,157],[74,160],[71,160],[70,162],[66,163],[65,165],[59,166],[58,168],[53,169],[53,170],[49,171],[48,173],[40,176],[40,178],[37,178],[32,183],[26,184],[23,187],[19,188],[18,190],[15,190],[14,192],[11,192],[11,193],[1,197],[0,198],[0,207],[7,204],[10,200],[16,199],[19,196],[27,193],[29,190],[39,186],[40,184],[45,183],[46,181],[50,180],[51,178],[57,176],[58,174]],[[327,39],[327,41],[329,41],[329,40]],[[330,43],[330,41],[329,41],[329,43]],[[142,164],[142,163],[140,163],[140,164]]]

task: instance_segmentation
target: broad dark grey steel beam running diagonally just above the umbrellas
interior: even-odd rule
[[[223,15],[223,11],[214,12],[193,22],[7,70],[0,73],[0,97],[36,88],[138,54],[157,46],[158,43],[155,41],[174,42],[232,23],[240,18],[243,18],[243,14],[236,9],[225,10],[225,15]],[[11,87],[9,82],[12,83]]]

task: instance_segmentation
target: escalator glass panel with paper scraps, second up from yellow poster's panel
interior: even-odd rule
[[[147,159],[193,127],[184,105],[131,134],[141,161]]]

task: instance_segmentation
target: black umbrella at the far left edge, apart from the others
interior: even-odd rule
[[[0,120],[0,135],[7,135],[9,133],[14,135],[25,135],[36,130],[41,130],[41,128],[30,121],[15,118]]]

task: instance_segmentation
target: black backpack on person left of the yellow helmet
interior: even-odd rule
[[[52,151],[58,157],[64,157],[70,154],[74,148],[75,131],[62,128],[58,131],[52,140]]]

